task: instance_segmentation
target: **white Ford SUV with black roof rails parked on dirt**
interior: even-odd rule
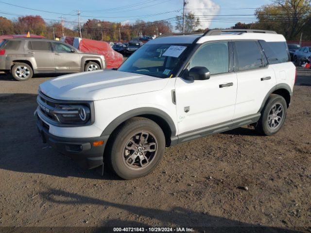
[[[133,179],[150,173],[165,147],[246,124],[275,134],[294,80],[285,38],[275,32],[162,36],[118,70],[42,83],[35,115],[56,150],[86,168],[105,161]]]

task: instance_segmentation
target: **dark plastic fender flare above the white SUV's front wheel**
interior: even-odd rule
[[[176,135],[175,124],[172,118],[167,113],[157,108],[144,107],[144,108],[137,108],[137,109],[130,110],[126,113],[123,113],[121,116],[118,116],[117,118],[115,118],[104,129],[104,132],[102,133],[101,136],[110,135],[124,121],[135,116],[143,116],[143,115],[154,115],[154,116],[158,116],[162,118],[169,125],[170,130],[172,132],[172,137]]]

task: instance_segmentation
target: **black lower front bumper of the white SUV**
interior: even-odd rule
[[[85,169],[95,168],[103,165],[104,148],[109,136],[90,138],[67,138],[58,137],[49,133],[49,125],[37,117],[37,128],[43,143],[48,143],[58,152],[75,160]],[[104,141],[101,146],[93,146],[95,141]]]

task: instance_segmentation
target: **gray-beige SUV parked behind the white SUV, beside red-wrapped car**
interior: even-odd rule
[[[0,71],[18,81],[38,73],[75,73],[104,69],[103,55],[83,53],[60,41],[36,38],[0,42]]]

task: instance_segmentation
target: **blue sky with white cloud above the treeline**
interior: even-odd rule
[[[237,8],[257,8],[272,3],[271,0],[187,0],[187,2],[186,12],[193,12],[195,16],[200,17],[200,28],[227,28],[238,21],[251,23],[256,21],[254,16],[250,16],[254,14],[255,9]],[[122,24],[134,23],[136,19],[144,21],[168,19],[174,26],[173,17],[182,15],[182,9],[183,0],[0,0],[2,17],[16,19],[18,16],[40,15],[46,22],[52,19],[61,20],[60,17],[63,17],[64,25],[68,28],[78,25],[78,10],[81,12],[82,23],[89,18]]]

